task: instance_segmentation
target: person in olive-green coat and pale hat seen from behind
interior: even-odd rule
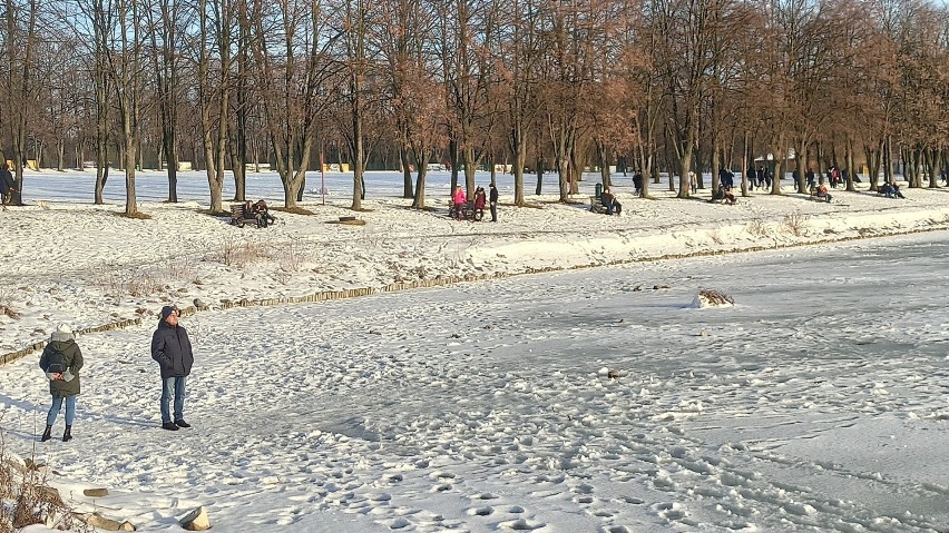
[[[42,432],[40,442],[52,438],[52,425],[63,403],[66,404],[66,432],[62,433],[62,442],[69,442],[72,440],[72,421],[76,418],[76,396],[79,395],[82,352],[76,344],[72,329],[66,324],[57,326],[49,336],[49,343],[40,356],[40,368],[49,378],[49,394],[52,395],[52,405],[46,415],[46,431]]]

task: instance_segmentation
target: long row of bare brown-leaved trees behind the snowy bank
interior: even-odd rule
[[[322,156],[402,169],[424,207],[429,162],[474,189],[474,169],[558,177],[635,168],[689,195],[688,171],[775,176],[855,161],[911,187],[949,168],[949,7],[926,0],[0,0],[0,149],[63,169],[110,165],[137,210],[136,167],[207,175],[266,161],[284,203]],[[793,154],[793,157],[791,157]],[[790,162],[789,162],[790,161]],[[798,161],[798,162],[795,162]],[[793,165],[793,167],[790,167]],[[463,172],[463,174],[460,174]],[[672,176],[678,176],[678,182]],[[495,176],[492,174],[491,178]],[[702,178],[699,178],[702,179]],[[704,184],[699,182],[699,186]],[[746,181],[743,182],[746,193]],[[775,180],[773,194],[780,194]]]

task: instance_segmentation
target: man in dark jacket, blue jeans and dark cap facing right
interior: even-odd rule
[[[178,431],[190,427],[185,422],[185,391],[188,374],[192,373],[195,356],[188,332],[178,325],[178,309],[166,305],[162,307],[158,328],[151,335],[151,358],[162,368],[162,428]],[[175,398],[175,418],[168,412],[168,402]]]

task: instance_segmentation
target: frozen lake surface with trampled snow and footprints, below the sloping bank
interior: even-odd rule
[[[947,531],[945,238],[198,314],[176,434],[154,324],[89,335],[77,440],[39,453],[139,531]],[[18,452],[39,377],[0,374]]]

